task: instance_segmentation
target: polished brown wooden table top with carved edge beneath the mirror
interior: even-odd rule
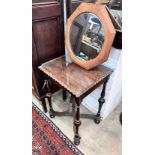
[[[80,97],[112,72],[103,65],[85,70],[75,63],[66,62],[65,56],[43,63],[39,69],[76,97]]]

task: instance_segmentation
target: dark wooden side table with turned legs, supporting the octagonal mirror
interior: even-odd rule
[[[63,98],[66,98],[65,91],[71,94],[74,99],[72,102],[72,112],[56,112],[52,107],[51,94],[47,93],[46,97],[50,106],[50,117],[54,116],[73,116],[74,117],[74,144],[80,144],[79,126],[81,125],[80,117],[94,119],[95,123],[100,123],[100,112],[103,103],[105,102],[105,87],[106,82],[112,73],[112,70],[99,65],[92,70],[85,70],[74,63],[67,63],[65,56],[58,57],[51,61],[42,64],[39,67],[46,75],[49,76],[56,84],[63,89]],[[101,96],[99,98],[99,108],[96,115],[80,114],[80,104],[84,97],[89,95],[97,87],[103,84]],[[50,92],[50,84],[45,81],[45,86]]]

